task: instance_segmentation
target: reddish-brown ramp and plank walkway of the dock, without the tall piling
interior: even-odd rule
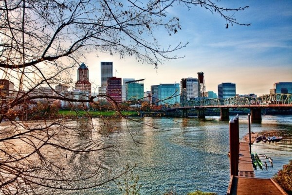
[[[257,137],[252,135],[251,143]],[[230,177],[227,195],[288,195],[272,178],[256,178],[247,140],[239,142],[238,176]]]

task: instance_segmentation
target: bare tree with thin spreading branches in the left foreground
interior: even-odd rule
[[[96,55],[110,53],[120,58],[134,56],[138,62],[155,67],[165,59],[180,57],[171,53],[187,43],[164,48],[153,32],[163,28],[168,35],[177,34],[182,29],[179,18],[170,16],[167,9],[170,6],[193,9],[197,5],[224,18],[226,28],[229,24],[250,25],[239,23],[234,17],[234,12],[248,6],[222,8],[215,0],[0,1],[1,193],[38,194],[39,189],[87,189],[119,177],[109,173],[105,177],[102,171],[103,151],[112,145],[102,145],[92,139],[93,134],[107,128],[106,123],[97,129],[90,116],[76,122],[49,114],[55,110],[50,105],[56,100],[85,104],[92,103],[95,97],[88,94],[88,98],[76,100],[60,94],[54,86],[58,83],[70,85],[72,69],[92,51]],[[34,93],[42,87],[52,93]],[[33,102],[40,98],[49,105],[42,106],[48,117],[25,121],[29,107],[34,107]],[[111,106],[119,109],[118,104]],[[39,114],[38,111],[40,109],[35,112]],[[3,123],[4,120],[8,122]],[[82,139],[88,140],[90,146],[82,145]],[[52,156],[48,151],[57,151],[54,154],[58,155]],[[63,163],[69,156],[85,158],[88,153],[97,153],[101,158],[92,161],[96,166],[89,168],[88,173],[79,173],[78,168]],[[94,182],[88,184],[89,179]]]

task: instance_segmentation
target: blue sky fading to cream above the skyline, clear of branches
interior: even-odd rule
[[[89,54],[85,61],[90,81],[100,86],[100,62],[113,62],[113,76],[145,79],[145,91],[151,85],[180,83],[182,78],[198,78],[204,72],[206,91],[218,94],[218,85],[236,84],[237,94],[269,94],[276,82],[292,82],[292,1],[291,0],[222,0],[218,5],[237,8],[238,22],[251,26],[229,26],[225,19],[201,8],[168,10],[180,19],[182,31],[168,36],[156,32],[164,46],[179,42],[189,44],[173,53],[184,58],[165,61],[158,69],[138,63],[135,58],[107,54]],[[233,12],[228,13],[232,15]]]

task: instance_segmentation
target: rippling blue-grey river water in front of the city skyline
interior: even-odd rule
[[[216,120],[212,120],[215,118]],[[229,122],[219,121],[218,116],[198,118],[143,118],[143,119],[92,119],[94,131],[80,131],[87,124],[68,122],[78,131],[59,130],[63,142],[70,142],[72,149],[86,150],[92,145],[109,147],[89,153],[67,153],[43,148],[43,155],[68,170],[68,177],[90,174],[100,166],[100,175],[84,187],[102,182],[125,171],[128,164],[133,176],[139,176],[141,195],[163,195],[170,189],[178,195],[201,190],[225,195],[230,180]],[[77,125],[76,125],[77,124]],[[3,125],[4,126],[4,125]],[[3,128],[2,126],[2,128]],[[7,127],[8,128],[8,127]],[[60,127],[58,127],[60,128]],[[8,128],[9,129],[9,128]],[[255,170],[256,177],[270,178],[284,164],[292,160],[292,116],[263,115],[261,123],[252,123],[251,130],[261,135],[282,136],[280,142],[259,142],[252,145],[253,152],[273,159],[273,167]],[[247,116],[239,116],[239,137],[248,133]],[[24,148],[23,143],[16,146]],[[67,176],[66,176],[67,177]],[[123,178],[116,180],[123,182]],[[100,181],[97,181],[100,179]],[[66,186],[65,186],[66,187]],[[41,189],[41,194],[52,194]],[[119,195],[115,182],[82,191],[55,191],[60,195]]]

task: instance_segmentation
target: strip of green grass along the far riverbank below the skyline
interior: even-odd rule
[[[121,111],[124,116],[137,117],[137,111]],[[59,110],[60,116],[83,117],[90,115],[91,117],[115,117],[120,116],[116,111],[72,111],[72,110]]]

